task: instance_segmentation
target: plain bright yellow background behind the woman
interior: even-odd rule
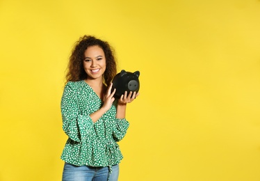
[[[260,180],[260,1],[0,1],[0,180],[60,180],[74,42],[140,70],[120,180]]]

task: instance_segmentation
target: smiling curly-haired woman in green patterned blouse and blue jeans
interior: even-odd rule
[[[111,80],[117,73],[108,42],[83,36],[76,42],[61,100],[63,130],[69,137],[61,159],[63,181],[117,180],[122,154],[117,141],[129,127],[127,104],[138,93],[115,100]]]

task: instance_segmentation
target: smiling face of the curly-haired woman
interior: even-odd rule
[[[84,53],[83,67],[88,74],[87,79],[103,79],[106,70],[106,57],[99,46],[91,46]]]

